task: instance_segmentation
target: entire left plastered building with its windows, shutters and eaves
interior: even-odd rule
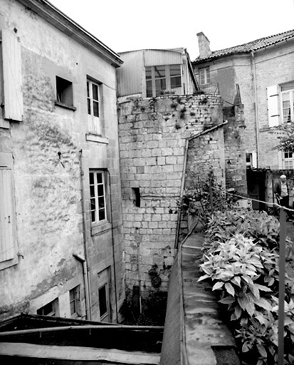
[[[47,1],[0,0],[0,30],[0,318],[115,322],[122,61]]]

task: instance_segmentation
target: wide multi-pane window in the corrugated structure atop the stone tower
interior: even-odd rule
[[[164,90],[182,88],[182,66],[162,65],[145,67],[146,96],[159,96]]]

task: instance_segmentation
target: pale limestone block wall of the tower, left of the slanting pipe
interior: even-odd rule
[[[157,264],[162,279],[159,289],[167,290],[186,139],[221,122],[219,96],[162,96],[119,104],[127,289],[132,290],[139,280],[143,294],[154,289],[148,271]],[[211,150],[214,155],[216,150]]]

